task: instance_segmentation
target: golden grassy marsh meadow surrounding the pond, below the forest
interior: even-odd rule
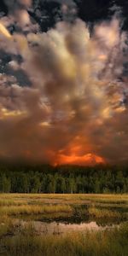
[[[106,228],[49,234],[37,231],[33,220],[96,221]],[[127,241],[128,195],[0,195],[2,256],[127,256]]]

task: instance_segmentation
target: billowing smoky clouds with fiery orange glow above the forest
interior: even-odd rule
[[[48,17],[33,10],[31,0],[3,2],[0,159],[126,162],[128,46],[121,9],[113,5],[112,18],[94,23],[90,32],[73,0],[57,0],[55,24],[43,32],[31,14]]]

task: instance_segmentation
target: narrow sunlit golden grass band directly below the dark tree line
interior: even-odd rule
[[[0,194],[0,206],[40,204],[109,204],[128,207],[128,195]]]

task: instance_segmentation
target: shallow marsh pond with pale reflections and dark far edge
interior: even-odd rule
[[[124,209],[121,207],[118,207],[118,209],[116,207],[113,208],[111,210],[113,211],[112,216],[109,217],[107,214],[105,217],[101,215],[100,218],[90,216],[88,208],[87,205],[75,205],[73,206],[72,214],[68,212],[55,212],[54,214],[19,215],[18,219],[14,217],[14,221],[21,228],[26,228],[28,224],[31,224],[38,235],[61,235],[73,231],[113,229],[114,227],[119,227],[121,223],[127,220],[127,218],[123,217],[122,212],[124,212]],[[102,209],[104,208],[102,207]],[[121,215],[115,214],[116,212],[121,212]]]

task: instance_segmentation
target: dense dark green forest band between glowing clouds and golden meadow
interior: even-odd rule
[[[127,166],[0,164],[1,193],[127,193]]]

